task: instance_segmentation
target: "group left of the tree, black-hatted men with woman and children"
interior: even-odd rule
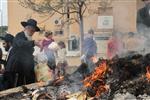
[[[65,43],[60,41],[56,43],[52,38],[53,33],[46,31],[45,38],[42,41],[35,41],[32,36],[39,32],[37,21],[29,19],[21,22],[24,30],[17,33],[14,37],[6,34],[0,37],[3,40],[3,47],[7,51],[6,58],[3,59],[2,50],[0,49],[0,73],[3,75],[0,82],[0,90],[5,90],[37,81],[35,75],[35,56],[33,56],[34,47],[37,46],[47,58],[47,66],[52,70],[55,78],[65,75],[66,49]],[[55,50],[53,49],[55,44]],[[51,46],[52,45],[52,46]],[[57,47],[57,48],[56,48]],[[58,60],[56,60],[56,58]]]

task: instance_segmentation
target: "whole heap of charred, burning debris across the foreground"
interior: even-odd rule
[[[133,55],[111,60],[99,59],[92,73],[82,64],[64,78],[27,88],[1,99],[49,100],[126,100],[150,99],[150,54]],[[91,66],[90,66],[91,67]],[[6,99],[7,100],[7,99]]]

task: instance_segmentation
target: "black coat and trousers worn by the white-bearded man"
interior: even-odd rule
[[[7,70],[18,73],[17,86],[35,82],[34,75],[34,41],[29,41],[24,32],[18,33],[13,41],[13,55],[7,62]]]

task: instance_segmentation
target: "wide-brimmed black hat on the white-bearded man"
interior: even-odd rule
[[[34,19],[29,19],[29,20],[27,20],[27,22],[23,21],[23,22],[21,22],[21,25],[23,27],[26,27],[29,25],[29,26],[34,27],[36,32],[40,31],[40,28],[37,26],[37,21]]]

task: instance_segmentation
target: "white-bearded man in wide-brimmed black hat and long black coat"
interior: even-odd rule
[[[17,86],[35,82],[33,52],[34,46],[39,46],[39,43],[32,40],[32,36],[40,31],[34,19],[21,22],[21,24],[24,30],[16,34],[12,49],[14,54],[8,62],[9,70],[18,73]]]

